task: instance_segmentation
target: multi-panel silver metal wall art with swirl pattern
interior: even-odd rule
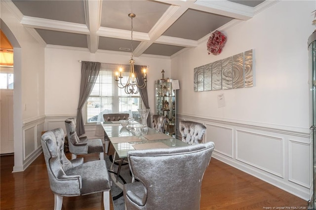
[[[253,50],[194,69],[194,91],[253,86]]]

